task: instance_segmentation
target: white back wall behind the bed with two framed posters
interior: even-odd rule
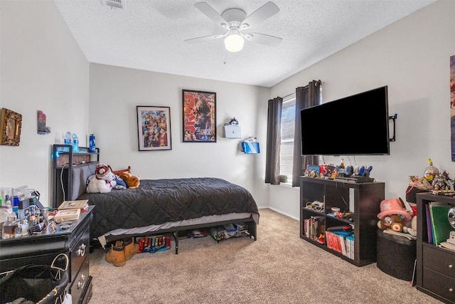
[[[217,142],[183,142],[182,90],[216,93]],[[269,89],[216,80],[90,64],[90,132],[100,160],[113,169],[131,166],[141,179],[220,177],[250,190],[267,206],[264,184],[267,130],[257,117],[267,116]],[[140,151],[137,106],[171,108],[171,150]],[[223,124],[236,117],[242,138],[257,137],[261,154],[244,154],[239,139],[222,137]]]

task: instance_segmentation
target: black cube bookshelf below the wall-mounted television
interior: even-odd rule
[[[376,232],[378,231],[378,213],[380,202],[384,200],[385,184],[382,182],[351,183],[338,182],[333,179],[316,179],[301,177],[300,179],[300,237],[314,243],[355,266],[365,266],[376,261]],[[321,208],[309,208],[309,204],[319,201]],[[312,205],[314,206],[314,204]],[[341,212],[350,211],[350,218],[331,216],[332,208]],[[315,210],[316,209],[316,210]],[[311,219],[319,221],[320,234],[323,237],[314,239],[306,233],[306,223]],[[333,249],[327,243],[326,229],[334,226],[353,227],[352,246],[348,255]],[[349,239],[352,239],[350,237]],[[329,245],[329,246],[328,246]]]

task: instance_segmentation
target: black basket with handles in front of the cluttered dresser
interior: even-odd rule
[[[0,303],[65,303],[68,263],[68,256],[60,253],[50,266],[26,265],[0,273]]]

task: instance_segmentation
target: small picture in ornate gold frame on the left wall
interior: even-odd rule
[[[21,141],[22,115],[1,109],[0,145],[18,146]]]

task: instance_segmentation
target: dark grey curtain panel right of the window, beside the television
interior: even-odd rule
[[[321,80],[313,80],[304,87],[296,88],[296,120],[294,129],[294,166],[292,169],[292,187],[299,187],[300,177],[309,164],[319,164],[318,156],[301,156],[300,110],[319,105],[321,100]],[[319,127],[319,126],[308,126]]]

